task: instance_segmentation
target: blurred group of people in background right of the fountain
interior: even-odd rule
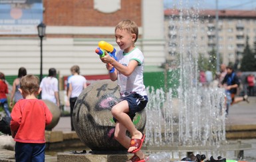
[[[250,73],[242,81],[241,72],[235,72],[233,67],[221,64],[221,71],[213,74],[209,71],[200,71],[199,82],[205,87],[219,87],[225,89],[226,115],[229,113],[229,106],[232,104],[246,101],[255,95],[255,76]],[[243,95],[241,95],[243,91]]]

